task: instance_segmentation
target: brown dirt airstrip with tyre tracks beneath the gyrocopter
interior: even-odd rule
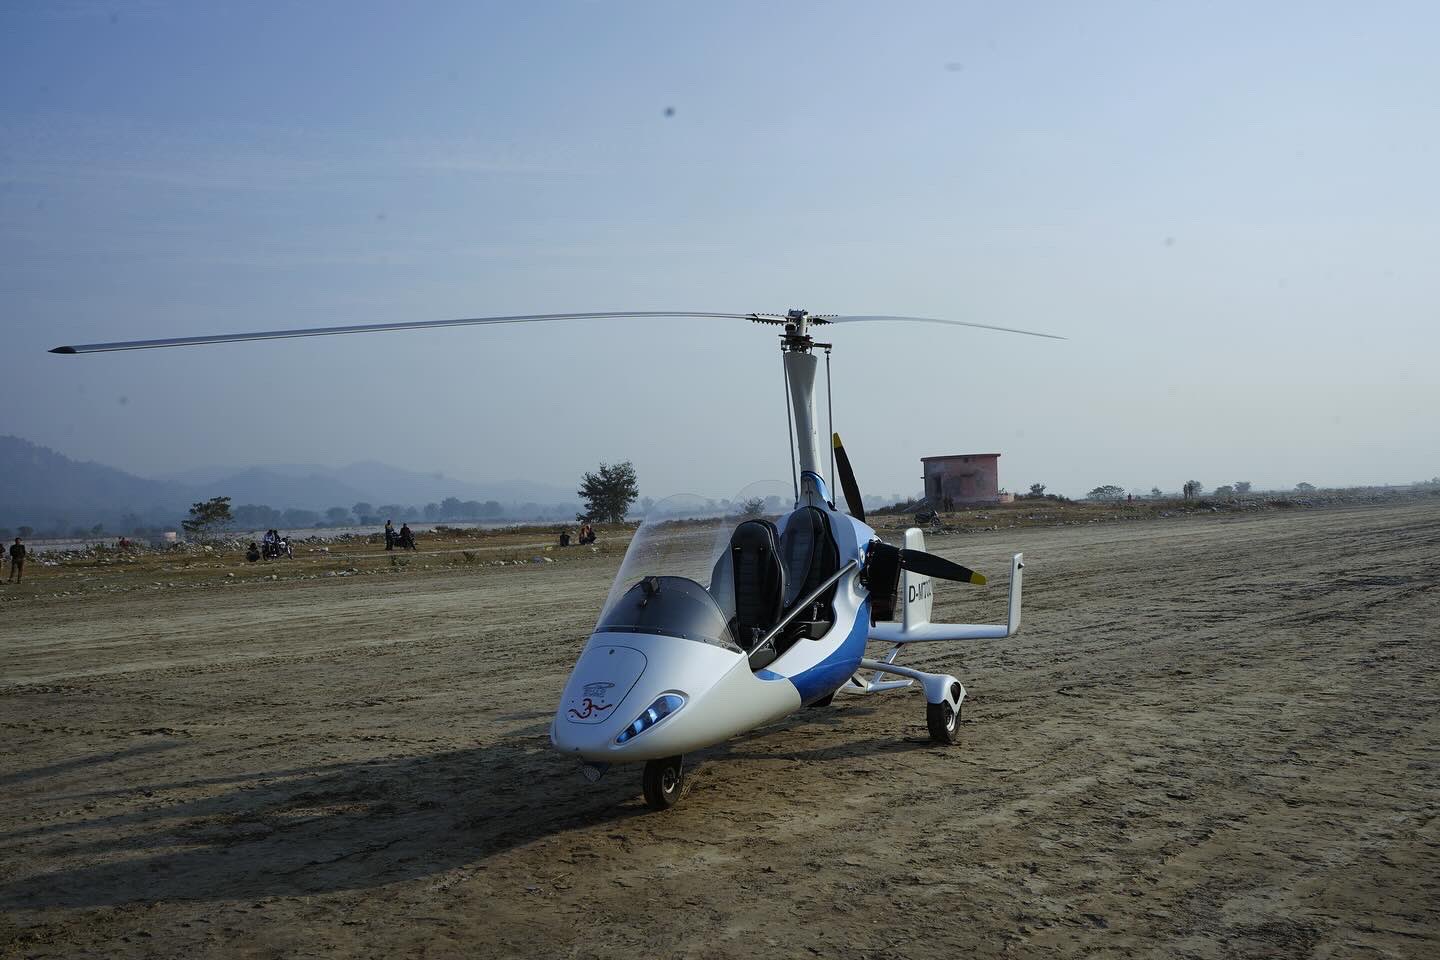
[[[667,813],[546,735],[615,554],[6,603],[0,956],[1440,956],[1440,504],[929,545],[1027,557],[904,658],[962,743],[842,695]]]

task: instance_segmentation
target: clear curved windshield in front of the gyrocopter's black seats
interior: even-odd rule
[[[734,586],[716,576],[729,560],[730,535],[746,520],[793,508],[791,484],[750,484],[732,499],[690,494],[660,501],[645,514],[611,586],[596,630],[660,633],[739,651],[730,635]]]

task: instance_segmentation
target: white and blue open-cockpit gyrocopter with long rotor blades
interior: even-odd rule
[[[56,347],[82,354],[245,340],[622,317],[749,320],[783,327],[780,353],[792,432],[788,510],[752,498],[740,515],[703,515],[662,501],[631,540],[599,620],[560,695],[550,740],[577,757],[589,780],[615,763],[644,763],[651,807],[684,793],[684,756],[785,717],[829,704],[837,692],[877,694],[919,684],[932,740],[958,740],[965,685],[948,674],[897,664],[910,643],[1014,636],[1020,629],[1024,556],[1011,561],[1005,623],[932,623],[933,580],[985,577],[924,553],[919,530],[887,544],[865,524],[850,458],[831,433],[848,512],[822,474],[816,435],[816,343],[812,330],[858,321],[924,321],[1063,340],[1051,334],[920,317],[611,311],[527,314],[397,324],[312,327],[210,337]],[[732,501],[736,502],[736,501]],[[877,658],[867,643],[886,643]]]

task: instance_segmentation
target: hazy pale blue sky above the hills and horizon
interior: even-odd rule
[[[851,325],[867,494],[1440,475],[1431,3],[0,6],[0,433],[141,475],[788,478],[775,328]],[[3,474],[3,465],[0,465]],[[0,481],[3,484],[3,481]]]

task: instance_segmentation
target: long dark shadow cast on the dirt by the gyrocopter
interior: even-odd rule
[[[805,711],[701,751],[687,759],[687,767],[775,757],[834,763],[926,746],[850,740],[815,747],[816,734],[842,728],[868,712],[867,707]],[[801,743],[791,744],[776,734],[795,734]],[[824,738],[828,741],[829,735]],[[792,746],[809,748],[788,748]],[[43,779],[45,773],[24,776]],[[124,794],[134,799],[131,810],[0,836],[0,842],[22,848],[43,843],[40,856],[27,855],[23,868],[0,882],[0,908],[265,898],[372,888],[475,864],[546,836],[648,813],[639,799],[638,767],[616,767],[600,783],[588,784],[576,764],[557,756],[544,735],[318,769],[249,770],[150,783],[135,783],[134,776],[125,780],[124,790],[115,790],[111,782],[92,794],[66,799]],[[196,790],[206,794],[181,802],[145,799]],[[654,816],[684,816],[684,810],[681,806]]]

